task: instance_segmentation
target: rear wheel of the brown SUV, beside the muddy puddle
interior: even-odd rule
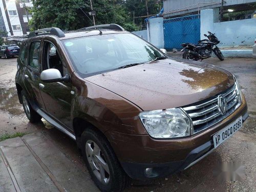
[[[30,122],[35,123],[35,122],[39,122],[41,120],[41,116],[38,115],[38,113],[35,112],[35,110],[32,109],[29,100],[25,94],[25,91],[22,90],[20,92],[20,96],[22,97],[22,104],[23,104],[23,108],[25,111],[25,114],[27,115],[27,118],[29,119]]]

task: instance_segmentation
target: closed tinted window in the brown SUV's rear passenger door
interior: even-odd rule
[[[40,42],[32,42],[29,50],[29,66],[38,69]]]

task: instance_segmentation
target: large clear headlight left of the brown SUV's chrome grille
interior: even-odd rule
[[[154,138],[186,137],[193,132],[189,117],[179,108],[145,111],[139,117],[147,133]]]

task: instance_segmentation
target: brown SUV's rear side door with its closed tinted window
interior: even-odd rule
[[[24,84],[27,89],[27,94],[33,108],[36,110],[37,108],[45,111],[45,104],[42,100],[40,94],[40,76],[39,76],[39,69],[41,65],[41,41],[36,40],[30,42],[28,48],[29,51],[26,53],[26,66],[24,70]]]

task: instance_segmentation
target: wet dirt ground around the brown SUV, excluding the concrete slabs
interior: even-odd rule
[[[180,56],[179,53],[173,55]],[[133,180],[125,191],[256,191],[256,60],[228,58],[219,61],[218,58],[209,58],[204,62],[237,75],[247,100],[250,117],[243,124],[241,131],[194,166],[166,178],[151,181]],[[0,59],[0,136],[5,133],[40,132],[51,139],[66,157],[87,172],[72,139],[45,120],[37,124],[27,120],[16,94],[16,70],[16,58]],[[214,176],[214,170],[216,165],[225,162],[243,164],[244,178],[241,181],[219,181]]]

